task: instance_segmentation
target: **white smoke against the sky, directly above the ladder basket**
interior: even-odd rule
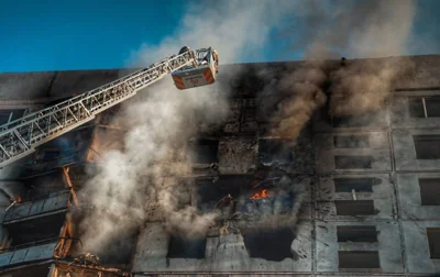
[[[191,48],[212,46],[222,64],[242,63],[249,56],[258,60],[264,46],[271,43],[270,32],[298,5],[299,1],[292,0],[201,1],[188,9],[189,13],[174,35],[160,45],[143,45],[133,53],[131,62],[147,65],[158,57],[178,52],[184,45]]]

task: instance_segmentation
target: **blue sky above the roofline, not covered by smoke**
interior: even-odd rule
[[[176,32],[188,2],[202,4],[189,0],[0,0],[0,71],[127,66],[142,44],[158,45]],[[257,4],[258,0],[249,3]],[[439,42],[440,31],[436,29],[440,20],[436,12],[440,1],[419,0],[417,5],[413,32]],[[301,58],[301,48],[276,55],[283,42],[274,33],[270,38],[262,54],[237,62]],[[409,47],[409,54],[439,53],[436,46]]]

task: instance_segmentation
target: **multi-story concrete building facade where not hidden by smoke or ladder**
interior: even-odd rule
[[[381,109],[337,118],[320,108],[294,144],[268,135],[285,95],[263,93],[258,76],[264,69],[276,79],[300,64],[223,66],[222,71],[239,73],[234,81],[219,80],[232,87],[230,115],[221,125],[200,129],[194,174],[179,181],[190,196],[184,204],[199,210],[227,195],[249,196],[234,201],[229,214],[241,217],[228,218],[229,229],[216,225],[188,240],[167,232],[161,210],[148,207],[136,232],[86,255],[75,229],[80,219],[73,214],[89,207],[77,191],[102,153],[122,147],[118,142],[127,132],[111,123],[118,107],[103,112],[1,169],[0,276],[440,273],[440,56],[407,58],[415,67],[393,82]],[[118,75],[2,74],[0,123]],[[249,199],[263,189],[271,192],[267,199]],[[249,204],[266,215],[287,209],[292,225],[253,229],[249,222],[256,212]]]

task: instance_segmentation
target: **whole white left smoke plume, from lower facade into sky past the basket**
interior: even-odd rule
[[[136,65],[148,65],[178,52],[215,47],[221,63],[240,60],[244,53],[257,53],[266,43],[270,26],[285,12],[271,1],[251,4],[244,1],[209,2],[202,9],[189,7],[182,25],[158,46],[144,45],[133,54]],[[290,4],[286,1],[286,4]],[[258,21],[255,21],[258,18]],[[220,75],[221,75],[220,67]],[[228,81],[224,81],[228,84]],[[111,239],[140,226],[161,214],[170,231],[188,235],[204,233],[216,219],[215,212],[198,214],[185,202],[178,176],[191,174],[187,142],[200,123],[218,123],[227,117],[228,88],[217,85],[186,91],[177,90],[169,78],[140,92],[124,103],[116,123],[129,131],[124,149],[101,154],[98,173],[81,191],[95,208],[80,230],[85,250],[99,252]]]

